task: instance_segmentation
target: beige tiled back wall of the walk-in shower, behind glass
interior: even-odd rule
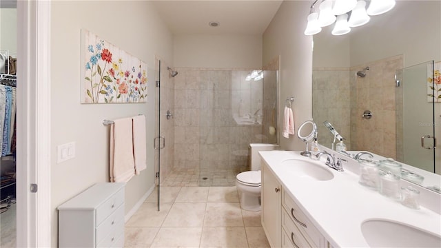
[[[247,170],[249,143],[269,141],[264,125],[238,125],[233,118],[239,106],[243,116],[253,117],[258,103],[263,105],[263,81],[245,81],[250,70],[180,68],[178,72],[174,169],[199,171],[205,178],[201,185],[234,185],[236,174]]]

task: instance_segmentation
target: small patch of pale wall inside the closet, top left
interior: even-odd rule
[[[0,50],[9,50],[17,57],[17,9],[0,9]]]

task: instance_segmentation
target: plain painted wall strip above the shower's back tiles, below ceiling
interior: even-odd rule
[[[176,68],[261,68],[260,35],[175,35]]]

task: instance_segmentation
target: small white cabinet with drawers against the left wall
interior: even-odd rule
[[[125,183],[97,183],[58,207],[59,247],[123,247]]]

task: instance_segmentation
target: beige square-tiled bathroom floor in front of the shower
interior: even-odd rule
[[[236,187],[161,187],[125,224],[125,247],[269,247],[260,211],[240,209]]]

